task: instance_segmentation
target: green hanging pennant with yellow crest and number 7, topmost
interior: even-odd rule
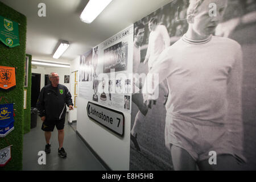
[[[0,16],[0,40],[8,47],[19,46],[18,23]]]

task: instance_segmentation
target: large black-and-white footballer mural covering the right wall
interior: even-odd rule
[[[217,159],[224,152],[240,169],[256,169],[256,2],[229,1],[225,11],[218,10],[226,1],[201,2],[205,15],[190,23],[204,38],[186,34],[192,28],[186,0],[134,23],[133,73],[146,75],[148,84],[156,73],[160,84],[154,82],[158,97],[132,96],[130,170],[177,169],[172,161],[181,163],[180,151],[209,168],[218,167],[208,163],[213,152]],[[210,16],[214,11],[218,16]],[[144,92],[145,78],[135,80],[134,88]]]

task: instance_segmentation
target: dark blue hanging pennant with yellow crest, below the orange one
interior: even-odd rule
[[[14,130],[13,104],[0,105],[0,137],[5,137]]]

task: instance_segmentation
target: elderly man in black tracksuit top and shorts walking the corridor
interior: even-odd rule
[[[55,72],[49,74],[49,80],[51,84],[42,88],[37,107],[39,110],[39,116],[43,121],[42,130],[46,137],[46,153],[51,152],[51,144],[49,142],[51,138],[51,132],[56,126],[58,130],[59,149],[58,155],[61,158],[65,158],[67,153],[63,148],[64,141],[64,123],[66,114],[66,104],[69,110],[73,110],[71,93],[64,85],[59,84],[59,75]]]

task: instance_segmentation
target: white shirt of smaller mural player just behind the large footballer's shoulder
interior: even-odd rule
[[[155,30],[150,32],[148,38],[148,48],[145,57],[148,59],[148,68],[154,66],[160,53],[168,46],[170,46],[170,37],[166,27],[164,25],[156,26]]]

